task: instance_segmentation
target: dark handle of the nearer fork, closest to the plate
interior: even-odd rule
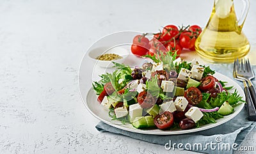
[[[247,111],[248,111],[248,120],[250,121],[256,121],[256,111],[255,111],[255,106],[253,105],[252,102],[252,97],[250,95],[248,86],[244,86],[244,93],[246,96],[246,102],[247,102]]]

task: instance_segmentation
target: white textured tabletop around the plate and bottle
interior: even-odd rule
[[[1,1],[0,153],[182,153],[98,132],[99,120],[79,96],[79,65],[93,42],[109,33],[156,32],[167,24],[204,27],[212,4],[205,0]],[[243,31],[252,45],[250,58],[255,58],[256,1],[250,8]],[[88,81],[91,71],[88,65]],[[86,83],[88,89],[91,85]],[[242,145],[253,146],[255,139],[254,129]]]

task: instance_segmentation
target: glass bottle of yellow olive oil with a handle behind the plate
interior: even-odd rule
[[[242,28],[249,8],[237,20],[233,0],[215,0],[211,17],[195,42],[197,53],[213,63],[230,63],[248,54],[250,43]]]

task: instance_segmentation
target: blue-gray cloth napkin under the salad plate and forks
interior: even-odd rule
[[[218,65],[212,64],[210,65],[210,67],[216,70],[216,72],[227,75],[227,77],[230,77],[231,79],[233,79],[232,64],[218,64]],[[256,66],[253,66],[253,70],[256,73]],[[237,83],[240,86],[243,86],[241,82],[237,81]],[[255,80],[253,80],[253,84],[256,85]],[[140,139],[142,141],[147,141],[154,144],[166,145],[166,148],[169,150],[172,150],[172,148],[170,148],[170,145],[173,145],[173,143],[176,143],[174,145],[175,148],[184,148],[184,150],[198,151],[202,153],[233,153],[234,151],[233,148],[234,149],[237,148],[237,150],[239,150],[239,145],[244,140],[246,135],[251,130],[253,130],[253,128],[255,128],[255,125],[256,125],[256,122],[248,121],[246,108],[244,107],[244,109],[235,118],[231,119],[230,121],[223,123],[218,127],[210,128],[208,130],[203,130],[200,132],[193,132],[190,134],[181,134],[181,135],[138,134],[138,133],[129,132],[119,128],[112,127],[103,122],[99,122],[96,128],[100,132],[113,132],[115,134],[126,135],[134,139]],[[179,143],[180,145],[183,144],[183,146],[177,147],[177,144]],[[189,149],[189,145],[185,147],[187,143],[189,143],[189,145],[192,146],[190,149]],[[212,143],[212,147],[211,147],[211,143]],[[195,148],[193,147],[193,145],[195,145]],[[200,145],[202,145],[202,149],[200,148]],[[228,150],[228,146],[230,146],[230,150]],[[248,146],[253,146],[253,145],[248,145]],[[227,150],[226,150],[226,147],[227,147]]]

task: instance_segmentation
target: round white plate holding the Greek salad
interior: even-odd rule
[[[231,85],[234,86],[234,88],[232,90],[230,90],[230,92],[233,92],[234,89],[237,89],[238,93],[241,96],[243,96],[243,99],[245,100],[243,89],[236,82],[234,82],[232,79],[226,77],[225,75],[222,75],[221,73],[215,73],[214,76],[221,81],[227,81],[228,86],[231,86]],[[93,114],[93,116],[95,116],[95,118],[98,118],[98,119],[100,119],[100,121],[103,121],[104,123],[108,123],[109,125],[111,125],[113,127],[120,128],[122,130],[127,130],[130,132],[136,132],[136,133],[141,133],[141,134],[157,134],[157,135],[186,134],[186,133],[198,132],[201,130],[206,130],[209,128],[217,127],[218,125],[221,125],[221,124],[227,122],[228,120],[234,118],[237,114],[239,114],[239,112],[244,107],[244,104],[237,105],[236,107],[234,107],[235,112],[233,114],[224,116],[224,118],[217,119],[216,123],[210,123],[210,124],[204,125],[200,128],[193,128],[193,129],[189,129],[189,130],[159,130],[159,129],[141,130],[141,129],[132,127],[132,125],[130,123],[123,125],[122,123],[120,123],[120,121],[111,120],[111,118],[108,116],[108,111],[104,110],[100,106],[99,102],[97,102],[97,95],[95,95],[95,92],[93,91],[92,88],[87,93],[86,100],[84,100],[84,105],[86,106],[88,111],[90,111]]]

